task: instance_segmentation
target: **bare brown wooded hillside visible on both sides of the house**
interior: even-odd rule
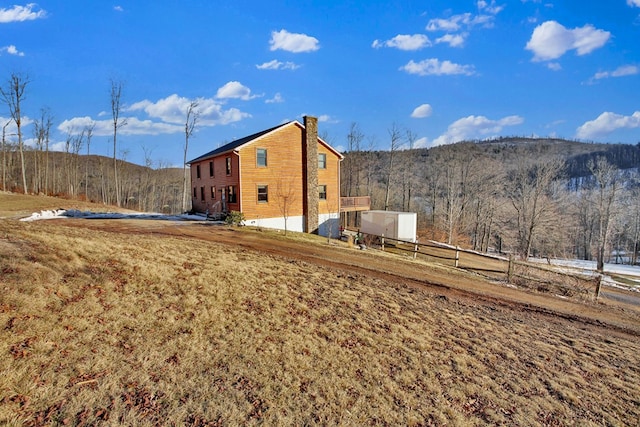
[[[418,213],[420,237],[481,251],[636,263],[640,247],[640,146],[499,138],[387,151],[354,149],[341,196],[372,209]],[[410,144],[409,144],[410,145]],[[401,149],[403,148],[403,149]],[[116,204],[112,159],[79,150],[24,151],[26,192]],[[2,150],[2,189],[22,192],[17,147]],[[118,160],[122,206],[183,210],[179,168]],[[358,225],[350,214],[348,225]]]

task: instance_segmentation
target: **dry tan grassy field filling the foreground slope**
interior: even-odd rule
[[[1,425],[640,419],[638,336],[553,315],[65,220],[0,219],[0,274]]]

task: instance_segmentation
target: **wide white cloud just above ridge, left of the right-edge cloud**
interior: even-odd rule
[[[486,139],[500,134],[505,126],[522,124],[520,116],[507,116],[499,120],[491,120],[484,116],[468,116],[456,120],[449,125],[447,132],[434,139],[432,146],[453,144],[454,142]]]

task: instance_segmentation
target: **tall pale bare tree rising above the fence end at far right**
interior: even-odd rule
[[[604,254],[609,243],[611,223],[615,217],[615,202],[619,191],[618,168],[604,157],[587,163],[596,183],[595,210],[598,221],[598,235],[596,248],[597,270],[604,269]]]

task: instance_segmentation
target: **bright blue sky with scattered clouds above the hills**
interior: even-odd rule
[[[640,0],[41,1],[0,3],[0,82],[29,79],[27,143],[42,108],[52,144],[94,124],[112,155],[111,81],[123,82],[118,156],[182,161],[317,116],[338,149],[496,136],[640,142]],[[8,109],[0,106],[0,120]],[[11,133],[11,127],[8,128]]]

